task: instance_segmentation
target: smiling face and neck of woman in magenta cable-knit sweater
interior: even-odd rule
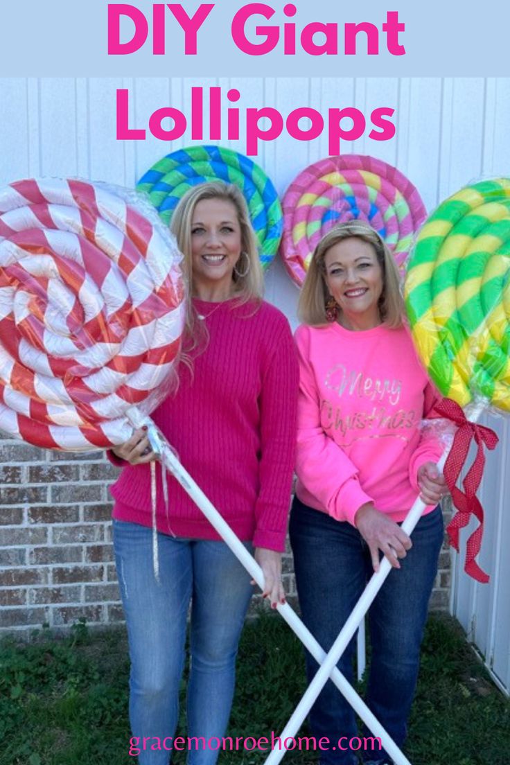
[[[191,221],[191,257],[195,288],[232,287],[232,270],[241,255],[241,226],[232,202],[204,199]]]

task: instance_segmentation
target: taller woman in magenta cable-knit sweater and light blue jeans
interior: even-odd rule
[[[264,596],[284,602],[284,550],[294,467],[297,360],[287,319],[261,300],[263,278],[244,197],[235,186],[202,184],[178,204],[171,229],[190,288],[177,393],[154,422],[180,461],[261,565]],[[154,459],[136,431],[116,448],[130,463],[112,487],[114,545],[132,660],[130,718],[143,737],[142,765],[167,765],[179,710],[190,612],[187,735],[191,765],[213,765],[225,734],[250,577],[177,481],[169,513],[158,480],[158,555],[151,546]],[[212,741],[212,744],[208,742]],[[202,743],[203,742],[203,743]]]

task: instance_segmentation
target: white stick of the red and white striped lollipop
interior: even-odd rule
[[[245,567],[246,571],[248,571],[252,578],[255,579],[258,586],[263,589],[264,575],[260,566],[255,561],[255,558],[249,554],[245,545],[243,545],[236,534],[232,532],[232,529],[226,520],[218,513],[200,487],[197,486],[197,483],[195,483],[190,474],[187,473],[187,470],[180,464],[176,454],[174,454],[169,444],[167,444],[167,441],[165,441],[164,437],[159,433],[154,422],[152,422],[150,418],[145,418],[144,415],[141,415],[141,412],[138,412],[138,409],[135,408],[129,410],[128,416],[135,428],[141,428],[142,425],[148,425],[148,435],[152,448],[159,454],[161,463],[189,494],[193,502],[197,504],[209,520],[213,528],[216,529],[224,542],[226,542],[226,545],[229,546],[229,549],[232,550],[239,562]],[[304,623],[300,620],[295,611],[292,610],[289,604],[278,604],[277,608],[289,627],[291,627],[291,630],[293,630],[300,641],[304,643],[313,658],[316,659],[320,665],[326,658],[326,652],[321,648],[312,633],[310,633],[310,630],[305,627]],[[367,705],[365,705],[365,702],[363,702],[362,698],[360,698],[354,688],[352,688],[352,685],[347,682],[337,667],[333,668],[331,679],[354,711],[356,711],[362,721],[365,722],[369,730],[372,731],[372,734],[381,739],[382,746],[385,747],[388,754],[395,760],[395,763],[397,763],[397,765],[411,765],[409,760],[401,753],[401,750],[398,748],[397,744],[395,744],[395,741],[393,741],[388,732],[385,731],[385,728],[378,722],[377,718],[375,718]],[[284,741],[284,739],[282,739],[282,741]]]

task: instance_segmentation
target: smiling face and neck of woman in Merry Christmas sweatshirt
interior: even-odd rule
[[[342,239],[326,252],[324,269],[327,288],[341,311],[340,324],[352,330],[381,324],[378,306],[384,280],[369,242],[357,236]]]

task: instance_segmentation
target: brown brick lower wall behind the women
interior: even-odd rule
[[[101,451],[70,454],[0,437],[0,633],[61,630],[122,620],[111,545],[108,484],[117,470]],[[284,584],[295,588],[292,558]],[[432,607],[445,609],[450,554],[441,553]]]

